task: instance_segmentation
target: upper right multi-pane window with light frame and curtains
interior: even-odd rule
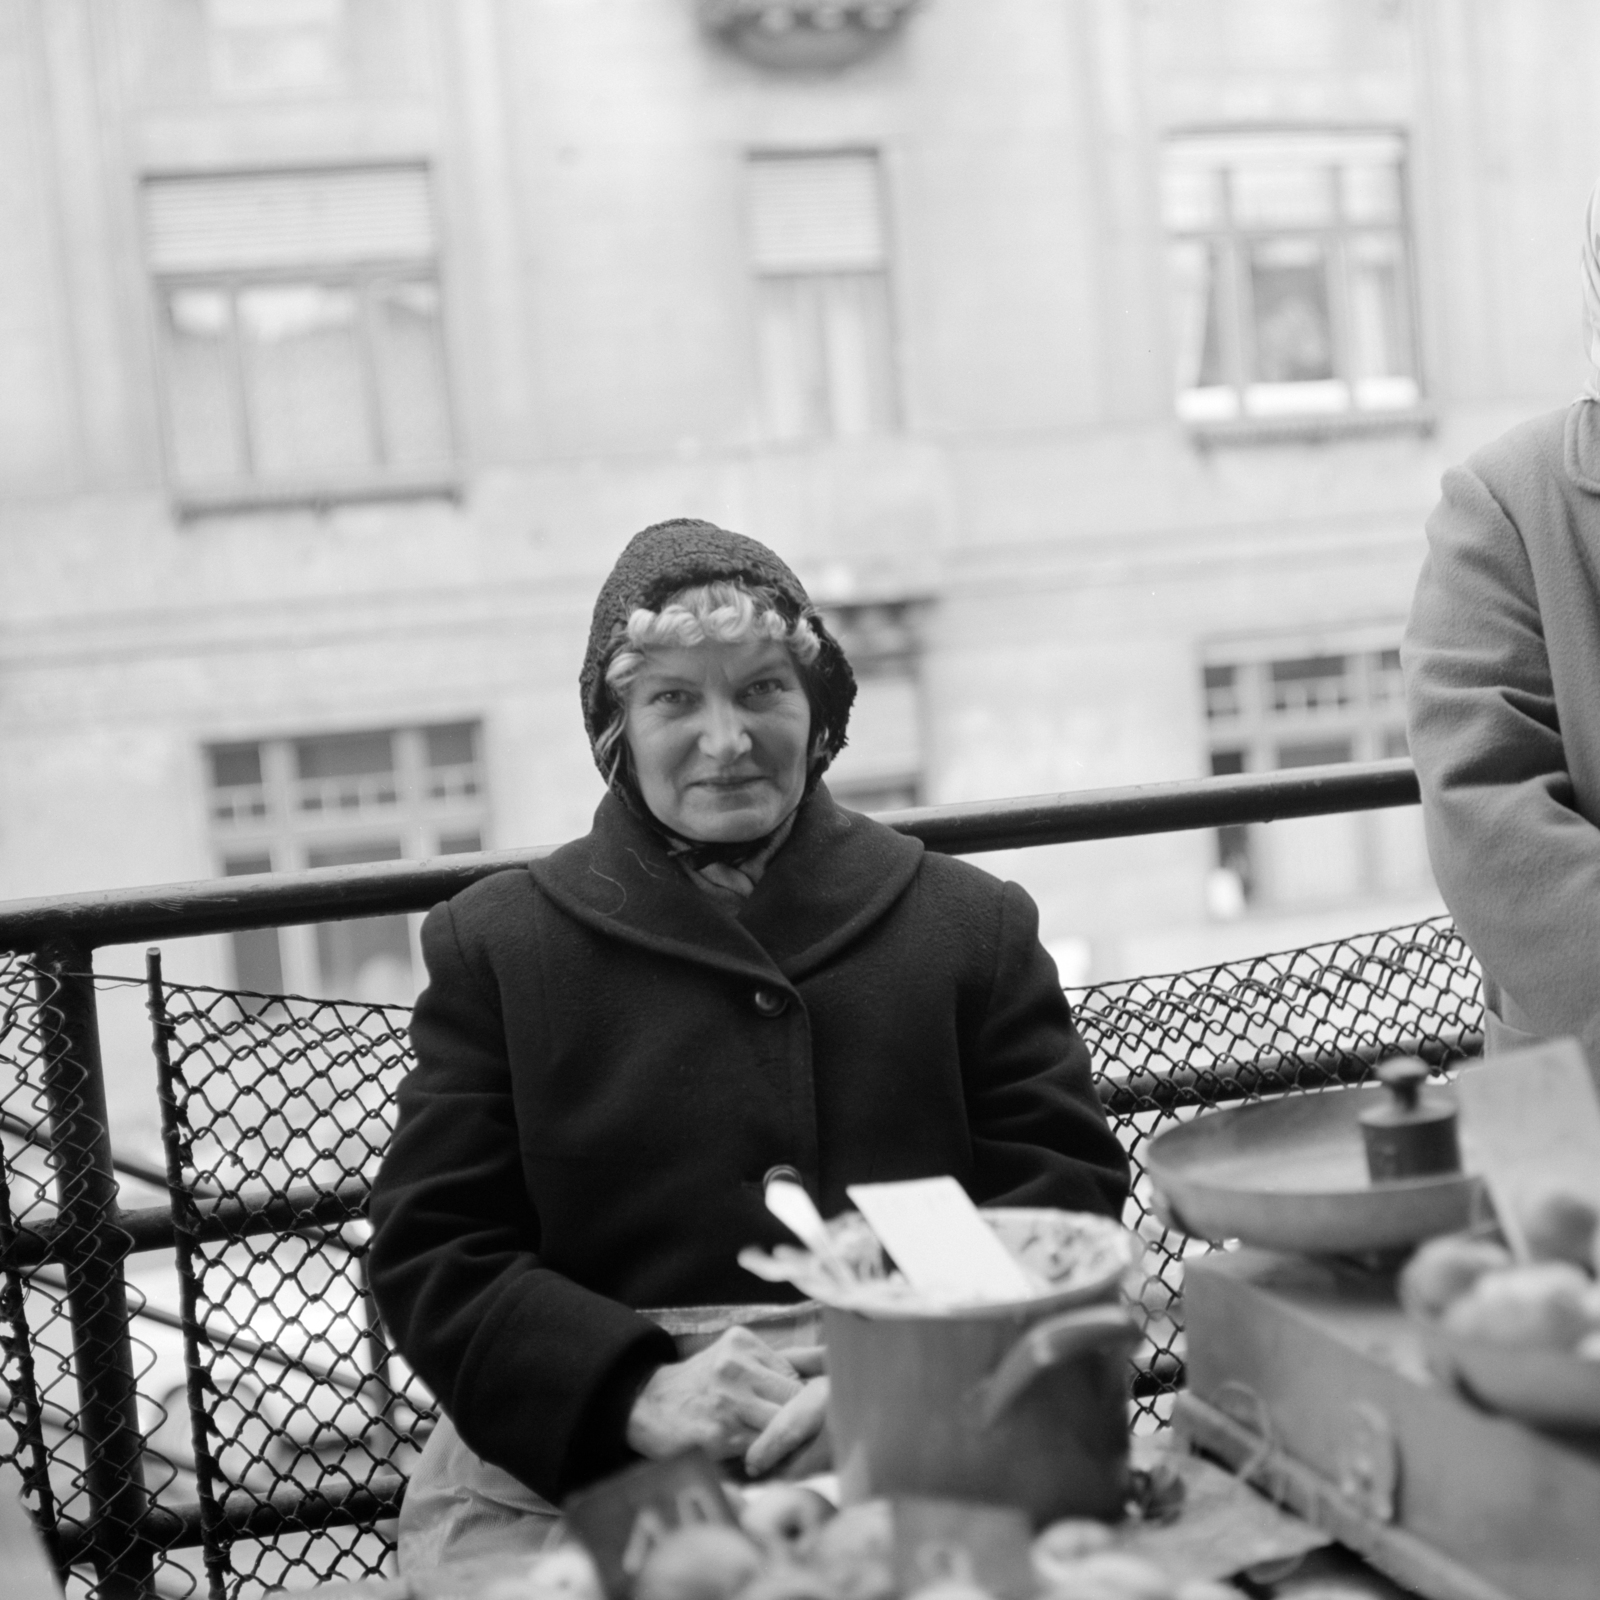
[[[1398,134],[1184,134],[1162,179],[1181,418],[1418,405]]]

